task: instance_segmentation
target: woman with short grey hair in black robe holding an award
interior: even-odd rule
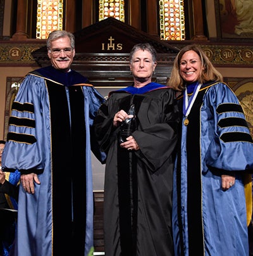
[[[154,49],[138,44],[130,53],[133,86],[111,92],[94,128],[107,153],[104,184],[106,255],[173,255],[171,193],[176,146],[175,93],[151,82]],[[135,113],[129,113],[131,105]],[[121,124],[135,128],[121,143]],[[132,121],[133,122],[133,121]]]

